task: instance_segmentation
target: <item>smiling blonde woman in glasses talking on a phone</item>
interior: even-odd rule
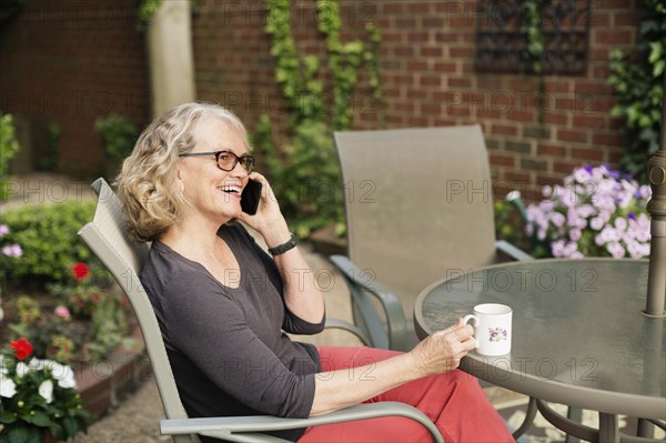
[[[478,383],[454,371],[474,348],[462,321],[407,353],[316,349],[283,333],[321,332],[324,302],[314,279],[299,278],[307,264],[266,179],[252,172],[249,150],[230,111],[188,103],[143,131],[118,178],[130,232],[153,242],[141,281],[188,413],[304,417],[402,401],[425,412],[447,442],[513,441]],[[240,203],[250,179],[263,184],[254,215]],[[263,236],[273,256],[238,220]],[[430,441],[421,425],[395,417],[280,435]]]

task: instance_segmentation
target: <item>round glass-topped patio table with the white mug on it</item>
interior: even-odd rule
[[[450,270],[418,295],[414,325],[423,339],[476,304],[511,306],[512,352],[473,351],[460,369],[529,395],[546,420],[574,436],[619,441],[618,414],[666,419],[666,319],[643,312],[647,274],[646,260],[612,259]],[[546,402],[598,411],[599,429],[567,420]],[[645,423],[639,427],[648,430]]]

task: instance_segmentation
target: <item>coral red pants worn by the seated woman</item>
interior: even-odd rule
[[[323,371],[349,371],[350,377],[372,377],[354,371],[398,354],[372,348],[320,348]],[[403,384],[365,403],[394,401],[411,404],[427,415],[452,442],[513,442],[508,429],[487,401],[478,382],[452,371]],[[421,424],[404,417],[382,417],[309,427],[300,443],[314,442],[432,442]]]

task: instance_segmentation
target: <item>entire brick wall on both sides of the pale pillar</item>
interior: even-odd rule
[[[262,113],[285,122],[264,30],[271,11],[259,0],[196,3],[192,23],[199,99],[234,109],[250,130]],[[314,0],[292,3],[289,19],[299,50],[320,56],[325,64]],[[545,77],[543,128],[534,75],[475,71],[476,1],[340,3],[345,41],[365,39],[367,21],[382,30],[381,74],[390,128],[480,123],[495,181],[527,195],[578,164],[617,164],[622,141],[619,122],[609,117],[614,100],[606,85],[608,53],[635,46],[636,0],[592,1],[586,71]],[[92,129],[97,115],[119,112],[138,123],[148,121],[145,43],[135,31],[135,1],[28,1],[1,37],[0,109],[64,128],[59,170],[101,169],[101,140]],[[381,104],[371,99],[364,74],[353,104],[354,128],[379,127]],[[89,159],[89,165],[82,159]]]

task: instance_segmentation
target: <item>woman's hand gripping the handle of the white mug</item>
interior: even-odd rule
[[[410,354],[423,376],[456,369],[461,359],[475,348],[474,328],[458,319],[456,324],[437,331],[418,343]]]

